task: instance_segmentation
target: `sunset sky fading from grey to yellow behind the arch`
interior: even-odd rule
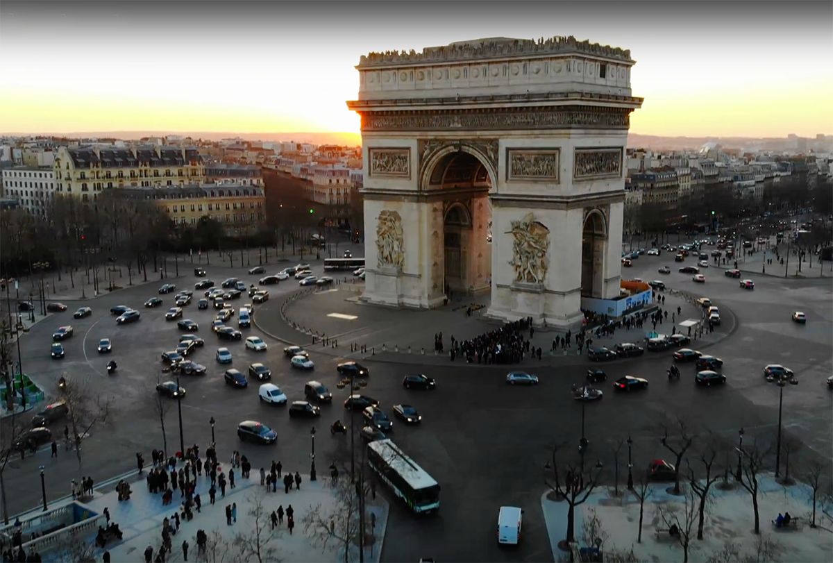
[[[760,2],[152,0],[134,11],[14,0],[0,7],[0,132],[358,132],[344,102],[357,97],[362,54],[574,35],[631,49],[633,94],[646,98],[631,132],[833,134],[833,9],[803,1],[772,12]]]

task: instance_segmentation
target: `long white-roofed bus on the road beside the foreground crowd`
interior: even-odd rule
[[[367,444],[367,462],[416,514],[440,510],[440,486],[390,440]]]

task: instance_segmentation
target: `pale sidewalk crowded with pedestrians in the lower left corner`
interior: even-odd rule
[[[223,471],[227,471],[227,466],[223,464]],[[190,545],[188,552],[189,556],[197,559],[197,530],[206,531],[209,537],[212,536],[213,531],[231,542],[237,533],[251,534],[255,531],[254,518],[249,514],[254,506],[254,499],[258,498],[262,501],[264,511],[271,514],[272,511],[277,510],[278,506],[283,506],[284,510],[287,506],[292,505],[295,511],[295,529],[292,534],[287,530],[287,520],[284,519],[282,526],[276,529],[276,534],[272,541],[269,542],[269,547],[274,547],[277,555],[282,561],[305,561],[305,563],[342,563],[344,561],[343,551],[338,550],[337,542],[332,542],[330,546],[332,549],[327,551],[322,550],[321,546],[312,546],[309,537],[304,531],[302,519],[308,511],[312,510],[317,505],[322,505],[323,513],[333,510],[337,506],[336,498],[332,495],[332,490],[328,487],[328,478],[319,476],[318,481],[310,481],[308,475],[302,476],[302,484],[300,491],[292,490],[287,495],[283,492],[282,486],[278,487],[276,493],[267,493],[264,488],[259,486],[260,476],[257,468],[252,469],[252,477],[250,479],[242,479],[240,477],[240,470],[236,469],[237,485],[234,489],[227,487],[226,496],[223,498],[220,494],[219,487],[217,487],[217,504],[212,506],[209,502],[208,488],[210,481],[208,477],[197,477],[197,493],[199,493],[202,500],[202,512],[194,511],[194,518],[192,521],[182,520],[179,531],[172,537],[173,554],[168,557],[167,561],[182,561],[182,541],[186,540]],[[111,515],[111,520],[118,524],[122,531],[122,541],[116,543],[109,543],[107,550],[110,551],[112,561],[123,563],[126,561],[142,561],[143,553],[147,546],[152,546],[154,554],[158,551],[158,547],[162,543],[162,522],[165,518],[169,518],[173,523],[173,514],[180,508],[182,499],[180,498],[179,490],[174,491],[172,504],[162,506],[162,495],[152,495],[147,491],[147,483],[145,477],[147,471],[142,476],[137,476],[136,472],[132,472],[132,476],[127,478],[131,484],[132,495],[129,501],[118,501],[115,486],[117,479],[108,482],[106,486],[96,488],[95,496],[91,501],[85,504],[92,510],[99,514],[107,508]],[[65,499],[64,502],[68,502]],[[237,504],[237,523],[228,526],[226,523],[225,508],[227,505]],[[59,506],[57,503],[52,503],[51,508]],[[335,510],[338,510],[335,508]],[[377,537],[377,545],[373,549],[367,548],[365,554],[365,561],[368,563],[377,563],[379,561],[384,541],[385,532],[387,531],[387,516],[389,506],[387,501],[377,496],[375,501],[367,500],[367,510],[376,518],[375,535]],[[182,516],[182,511],[180,511]],[[264,522],[265,527],[262,527],[264,533],[270,531],[268,518]],[[90,538],[92,541],[92,537]],[[234,549],[232,547],[232,549]],[[100,557],[103,550],[97,550],[97,559]],[[50,554],[45,558],[46,561],[58,561],[58,554]],[[357,561],[358,554],[352,554],[351,561]]]

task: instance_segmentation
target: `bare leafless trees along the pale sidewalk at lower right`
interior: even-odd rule
[[[740,442],[727,441],[711,431],[700,430],[683,419],[665,421],[658,425],[660,431],[656,434],[656,449],[666,451],[670,461],[674,462],[674,483],[668,493],[676,495],[680,501],[676,503],[658,503],[656,506],[659,520],[670,529],[676,526],[679,535],[673,541],[679,543],[683,551],[683,561],[689,561],[691,549],[695,541],[702,541],[705,535],[706,519],[709,516],[707,507],[710,505],[715,487],[731,489],[741,487],[751,496],[755,534],[761,533],[761,518],[759,514],[759,495],[761,479],[771,470],[772,461],[776,459],[776,446],[768,441],[761,441],[753,437],[751,440]],[[741,434],[742,436],[742,434]],[[620,467],[624,438],[613,438],[609,441],[610,458],[614,467],[613,496],[621,496]],[[632,443],[632,442],[631,442]],[[566,445],[565,445],[566,446]],[[790,454],[795,454],[801,442],[787,438],[781,443],[781,454],[786,457],[786,472],[781,479],[785,486],[793,484]],[[567,546],[576,541],[575,538],[575,508],[582,505],[591,493],[601,485],[601,461],[585,470],[581,462],[563,454],[570,448],[556,446],[553,448],[551,461],[547,462],[545,482],[551,489],[552,500],[565,501],[568,506],[566,536],[561,546]],[[655,452],[656,453],[656,452]],[[653,457],[653,456],[652,456]],[[735,464],[736,468],[735,468]],[[811,487],[812,513],[811,527],[820,526],[819,518],[827,519],[827,525],[833,524],[833,479],[828,475],[829,467],[821,461],[808,461],[806,470],[801,472],[801,480]],[[776,474],[777,475],[777,474]],[[651,475],[647,471],[633,472],[631,495],[639,501],[639,521],[636,529],[636,541],[642,541],[642,526],[645,516],[646,501],[654,494],[651,487]],[[599,527],[591,522],[591,536],[585,544],[593,546],[596,538],[601,537]],[[588,525],[585,524],[585,534]],[[726,554],[724,554],[726,555]],[[714,561],[746,561],[735,553],[734,559],[720,559]],[[621,554],[620,554],[621,556]],[[611,561],[607,556],[606,561]],[[618,561],[618,560],[616,560]],[[623,559],[622,561],[636,561]],[[759,560],[760,561],[760,560]]]

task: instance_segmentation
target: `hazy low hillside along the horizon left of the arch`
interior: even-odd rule
[[[27,136],[31,133],[4,133],[12,136]],[[355,147],[362,144],[362,136],[359,133],[347,132],[275,132],[275,133],[236,133],[236,132],[206,132],[206,131],[90,131],[72,133],[37,133],[40,137],[115,137],[117,139],[139,139],[142,137],[165,137],[167,135],[182,135],[194,139],[206,141],[219,141],[225,138],[240,137],[245,141],[295,141],[309,142],[313,145],[348,145]]]

